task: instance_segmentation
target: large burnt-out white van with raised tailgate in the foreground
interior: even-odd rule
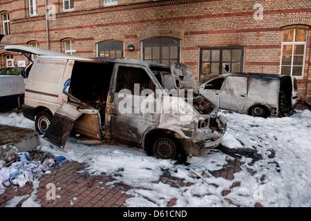
[[[225,134],[227,119],[198,94],[193,75],[183,64],[93,59],[26,46],[5,49],[37,55],[27,68],[23,115],[59,147],[64,148],[70,133],[77,133],[135,144],[148,155],[180,160],[209,152]],[[188,89],[194,96],[184,99],[180,91]],[[154,96],[158,90],[162,94]],[[135,102],[147,102],[160,111],[144,112]]]

